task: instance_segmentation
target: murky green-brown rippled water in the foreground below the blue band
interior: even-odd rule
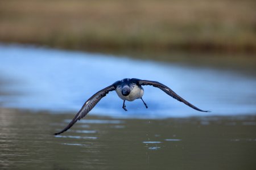
[[[164,120],[0,111],[0,169],[255,169],[256,117]]]

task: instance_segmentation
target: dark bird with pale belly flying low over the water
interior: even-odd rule
[[[179,95],[177,95],[174,91],[171,90],[171,88],[165,86],[162,83],[151,81],[151,80],[141,80],[137,78],[125,78],[122,80],[118,80],[117,82],[111,84],[110,86],[96,92],[92,97],[90,97],[87,101],[85,101],[84,105],[82,105],[82,108],[80,111],[76,114],[76,116],[73,118],[73,120],[61,131],[55,133],[55,135],[59,135],[63,133],[64,131],[67,131],[70,129],[77,121],[79,121],[81,118],[85,117],[87,113],[89,113],[93,107],[103,98],[105,97],[110,91],[117,92],[117,95],[123,100],[123,106],[122,108],[127,111],[125,101],[134,101],[136,99],[141,99],[143,104],[146,108],[147,104],[142,99],[142,96],[144,94],[144,89],[142,86],[153,86],[160,88],[160,90],[164,91],[167,95],[173,97],[174,99],[188,105],[189,107],[200,111],[200,112],[209,112],[209,111],[203,111],[195,105],[192,105]]]

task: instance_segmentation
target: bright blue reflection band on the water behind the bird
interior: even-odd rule
[[[201,113],[154,87],[144,86],[140,100],[126,103],[115,92],[104,97],[90,114],[120,118],[166,118],[256,113],[256,79],[231,71],[174,63],[133,60],[84,52],[0,45],[3,107],[77,112],[98,90],[123,78],[158,80],[184,99],[210,113]],[[207,122],[202,122],[207,124]]]

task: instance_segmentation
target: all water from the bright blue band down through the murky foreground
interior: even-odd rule
[[[70,130],[86,99],[122,78],[158,80],[144,101],[110,92]],[[232,70],[0,46],[0,169],[255,169],[256,80]]]

